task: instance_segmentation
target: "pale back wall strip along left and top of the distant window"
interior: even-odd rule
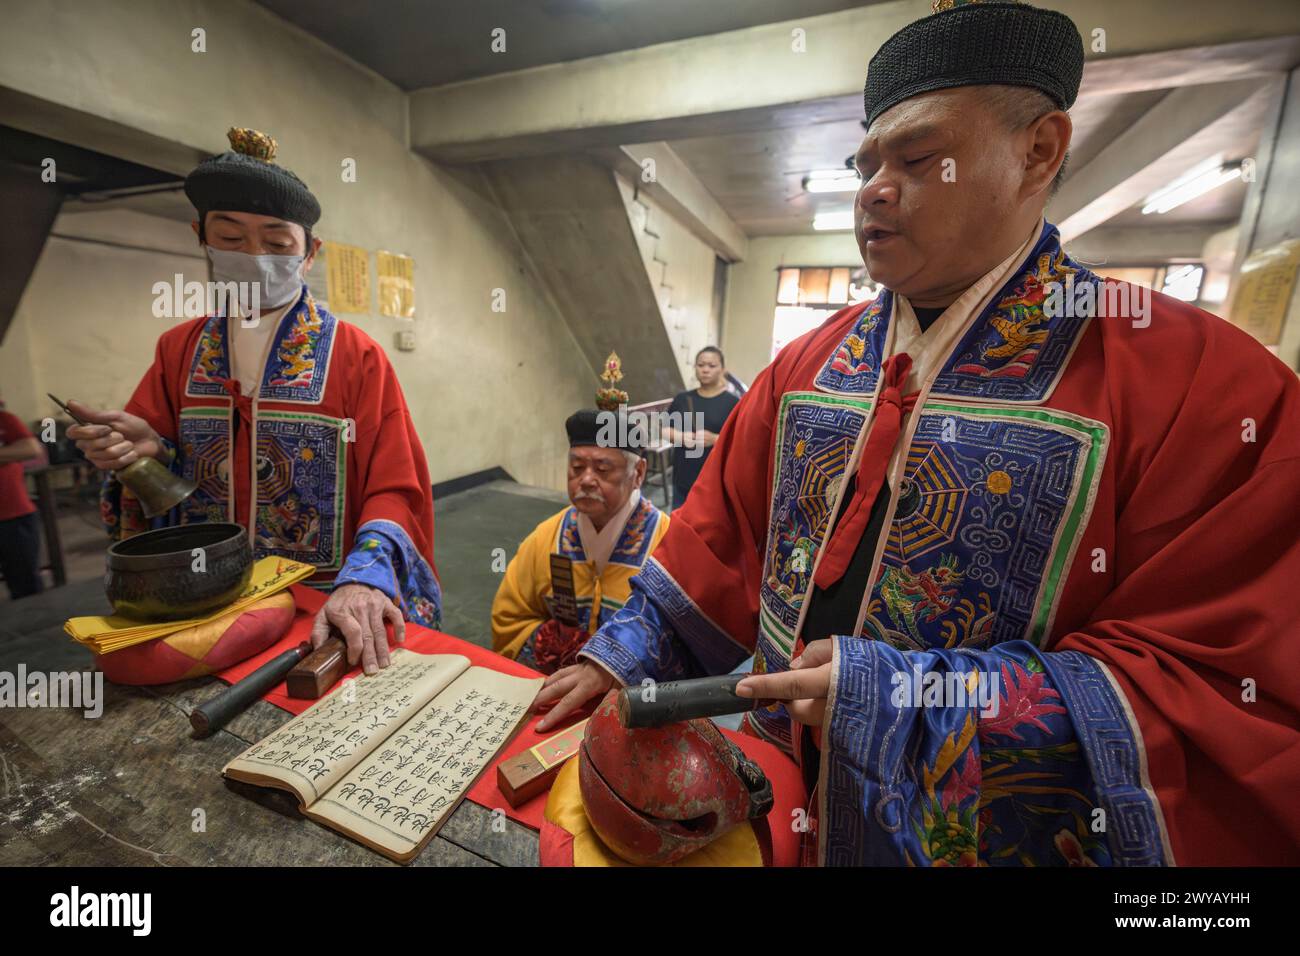
[[[720,347],[727,367],[751,382],[772,355],[776,271],[783,265],[862,265],[852,232],[764,235],[749,241],[749,256],[728,267]]]

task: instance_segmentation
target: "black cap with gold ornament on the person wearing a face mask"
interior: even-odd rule
[[[254,212],[307,229],[316,225],[321,206],[302,179],[272,161],[274,139],[248,129],[231,129],[226,137],[234,148],[205,159],[185,178],[200,222],[209,212]]]

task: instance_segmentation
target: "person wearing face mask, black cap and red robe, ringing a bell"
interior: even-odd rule
[[[436,627],[433,499],[424,450],[384,350],[338,321],[307,290],[321,209],[276,165],[276,143],[233,129],[233,150],[190,173],[192,224],[229,308],[159,338],[153,364],[121,411],[70,402],[87,425],[69,429],[105,471],[153,457],[198,483],[155,524],[237,522],[256,557],[315,564],[329,592],[312,633],[334,624],[348,662],[389,663],[386,624]],[[150,527],[116,480],[101,511],[114,537]]]

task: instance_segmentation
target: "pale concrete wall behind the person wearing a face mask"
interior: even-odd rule
[[[0,122],[136,161],[150,161],[139,153],[152,150],[155,165],[177,173],[187,156],[226,148],[229,126],[276,137],[278,160],[321,202],[321,238],[415,258],[415,351],[391,349],[400,320],[343,317],[389,349],[433,480],[500,464],[521,481],[562,486],[563,421],[590,399],[594,373],[480,174],[410,152],[402,91],[244,0],[4,0],[0,22]],[[207,31],[205,53],[191,52],[198,27]],[[356,160],[356,182],[342,181],[344,159]],[[56,298],[48,281],[40,286],[47,295],[34,284],[21,307],[29,343],[10,333],[0,359],[6,389],[25,347],[35,363],[32,381],[14,378],[14,411],[23,418],[44,414],[31,405],[35,395],[68,389],[58,364],[44,359],[70,338],[60,303],[98,306],[91,315],[103,338],[74,351],[103,346],[101,372],[86,384],[105,398],[116,384],[125,399],[152,352],[143,333],[108,329],[156,321],[136,317],[134,303],[159,276],[135,267],[118,274],[125,252],[57,242],[40,268],[56,267],[78,289]],[[78,260],[86,272],[61,268]],[[172,267],[168,256],[152,265],[164,278]],[[498,287],[507,294],[504,313],[491,311]]]

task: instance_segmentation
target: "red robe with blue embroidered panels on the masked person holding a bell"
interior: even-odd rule
[[[231,378],[226,336],[220,315],[168,329],[126,405],[168,444],[172,468],[199,484],[161,523],[237,522],[256,557],[316,564],[307,584],[370,584],[437,627],[429,470],[387,355],[306,286],[256,395]],[[116,481],[105,490],[110,528],[146,527],[129,492]]]

